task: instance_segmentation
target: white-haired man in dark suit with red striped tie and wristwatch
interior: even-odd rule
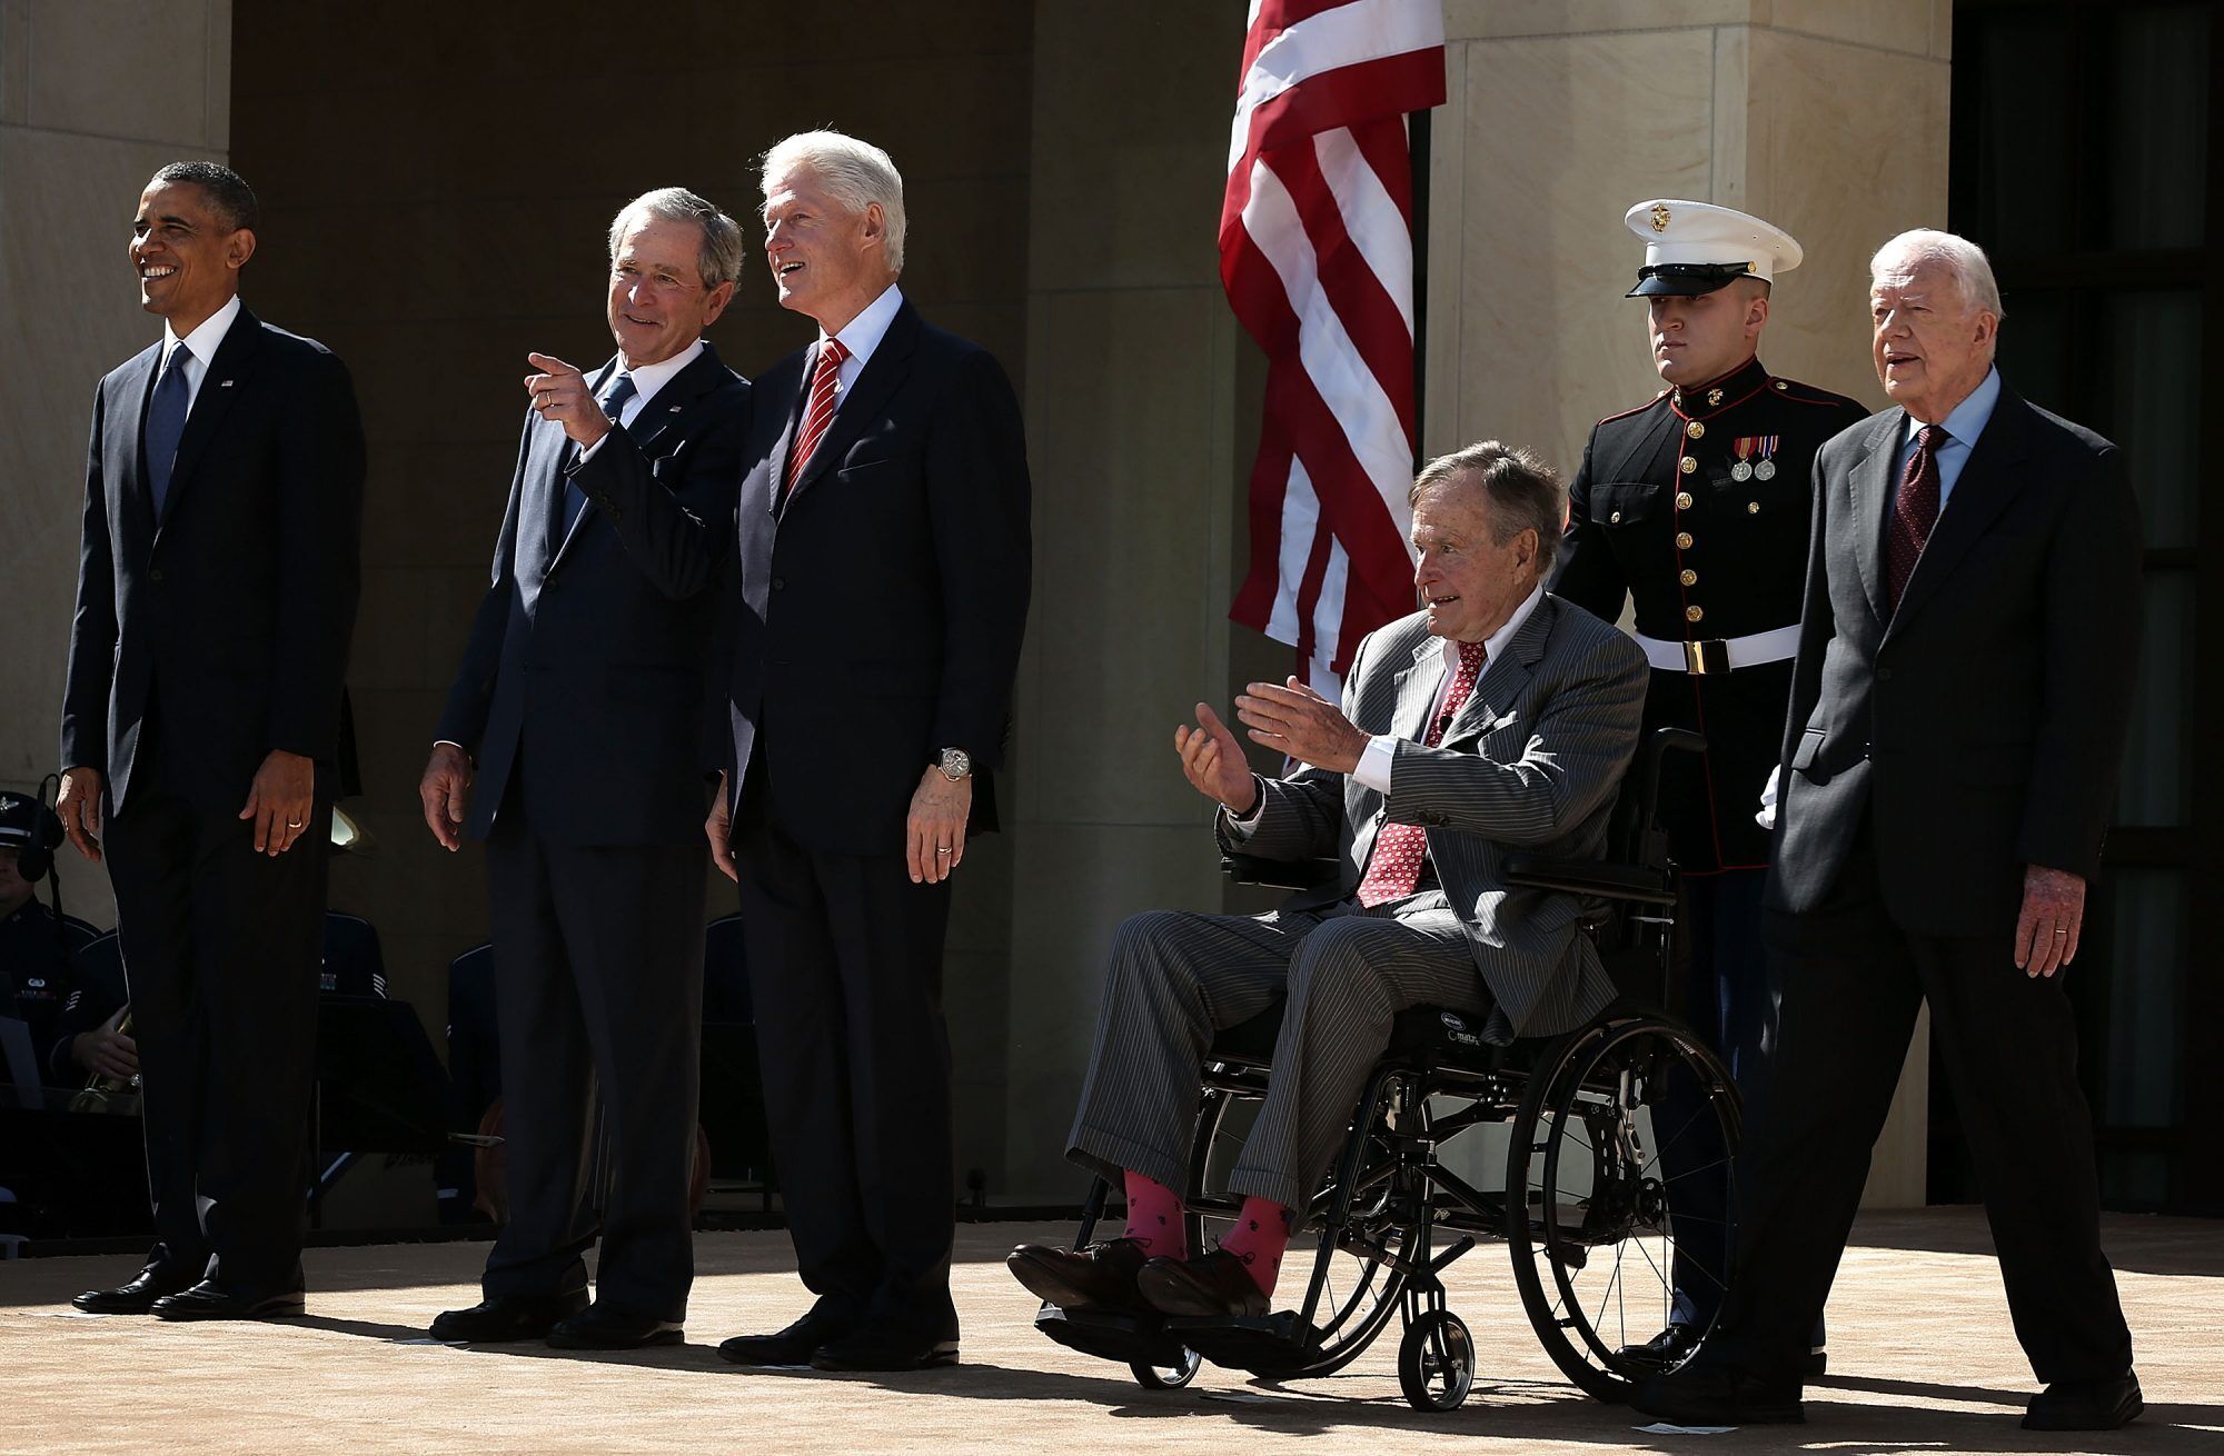
[[[580,482],[667,589],[741,558],[729,774],[705,829],[741,882],[781,1196],[818,1300],[721,1352],[912,1369],[956,1358],[943,929],[965,836],[996,822],[1027,451],[996,360],[896,287],[885,151],[792,136],[763,189],[781,305],[821,336],[756,382],[738,529],[645,509],[625,460]]]

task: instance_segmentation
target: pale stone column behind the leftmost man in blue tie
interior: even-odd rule
[[[56,767],[93,385],[162,336],[125,258],[156,167],[231,147],[231,0],[0,0],[0,787]],[[62,851],[67,907],[116,923]]]

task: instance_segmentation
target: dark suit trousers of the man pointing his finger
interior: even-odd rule
[[[489,1298],[585,1285],[600,1107],[612,1178],[596,1300],[683,1320],[705,847],[549,845],[514,785],[487,838],[509,1223],[483,1285]]]

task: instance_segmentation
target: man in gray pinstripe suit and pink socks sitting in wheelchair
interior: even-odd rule
[[[1121,1238],[1021,1245],[1007,1267],[1059,1307],[1257,1316],[1397,1011],[1488,1014],[1486,1036],[1548,1036],[1615,989],[1572,894],[1506,885],[1512,851],[1597,858],[1637,751],[1646,658],[1543,591],[1568,496],[1537,456],[1488,440],[1412,482],[1423,609],[1359,642],[1343,705],[1252,682],[1237,718],[1299,760],[1250,771],[1221,718],[1174,729],[1188,780],[1221,805],[1223,849],[1337,856],[1332,882],[1257,918],[1154,911],[1114,938],[1068,1156],[1125,1185]],[[1185,1247],[1181,1196],[1212,1034],[1288,996],[1274,1074],[1228,1187],[1221,1247]]]

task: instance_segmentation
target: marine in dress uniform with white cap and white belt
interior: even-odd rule
[[[1824,440],[1868,418],[1855,400],[1768,373],[1755,353],[1777,273],[1799,245],[1759,218],[1675,198],[1632,207],[1646,242],[1630,298],[1650,300],[1664,389],[1590,431],[1570,489],[1552,591],[1619,620],[1635,602],[1652,662],[1650,736],[1706,734],[1706,754],[1661,765],[1659,814],[1684,871],[1690,1025],[1750,1080],[1768,1020],[1755,802],[1777,765],[1806,576],[1810,469]],[[1688,1354],[1728,1269],[1726,1185],[1686,1191],[1677,1300],[1646,1352]],[[1819,1332],[1817,1332],[1819,1347]]]

